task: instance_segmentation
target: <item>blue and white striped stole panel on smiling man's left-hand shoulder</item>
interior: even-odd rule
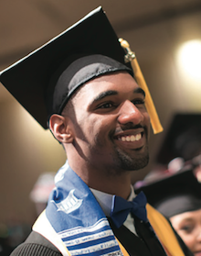
[[[63,255],[122,255],[99,203],[68,161],[58,170],[55,184],[33,230],[50,240]]]

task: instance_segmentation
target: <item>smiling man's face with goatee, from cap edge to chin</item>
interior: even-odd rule
[[[132,171],[148,163],[143,90],[127,72],[100,76],[72,98],[74,147],[91,168]]]

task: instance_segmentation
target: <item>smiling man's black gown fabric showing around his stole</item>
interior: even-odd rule
[[[149,239],[143,239],[137,237],[128,228],[122,226],[121,228],[115,228],[109,219],[111,229],[114,232],[115,237],[121,241],[123,248],[131,256],[164,256],[166,255],[161,244],[157,238],[153,236],[153,233],[148,230],[143,233],[143,236],[150,237]],[[147,227],[145,227],[146,229]],[[139,229],[139,228],[136,228]],[[175,232],[175,230],[173,229]],[[138,231],[139,232],[139,231]],[[141,231],[141,232],[144,232]],[[142,236],[142,235],[141,235]],[[184,251],[185,256],[193,256],[193,254],[187,249],[182,239],[175,233],[176,239]],[[48,239],[32,231],[26,241],[19,245],[14,250],[11,256],[58,256],[62,255],[61,252],[51,243]]]

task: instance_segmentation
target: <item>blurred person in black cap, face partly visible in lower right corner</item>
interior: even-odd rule
[[[195,256],[201,255],[201,184],[192,169],[164,172],[155,180],[135,184],[147,201],[169,218],[176,232]]]

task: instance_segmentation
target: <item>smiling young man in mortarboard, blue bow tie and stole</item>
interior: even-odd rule
[[[101,8],[2,72],[1,82],[42,126],[48,118],[68,158],[46,211],[12,255],[191,255],[134,195],[131,173],[149,159],[149,115]]]

